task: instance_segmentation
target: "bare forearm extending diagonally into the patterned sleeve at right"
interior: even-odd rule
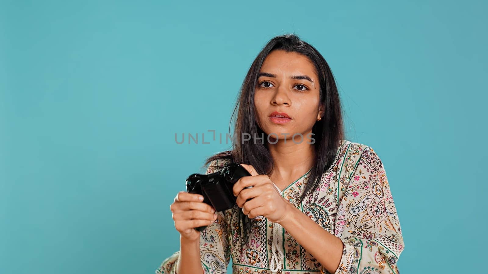
[[[344,244],[315,221],[289,204],[286,218],[279,222],[324,267],[334,273],[341,261]]]

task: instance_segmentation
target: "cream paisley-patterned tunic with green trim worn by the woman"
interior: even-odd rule
[[[219,171],[227,161],[210,162],[206,173]],[[281,195],[342,240],[344,250],[335,273],[398,274],[397,261],[405,245],[385,169],[375,151],[364,144],[342,140],[334,164],[322,175],[318,188],[301,201],[309,172]],[[249,242],[237,250],[237,214],[231,221],[230,212],[218,212],[215,222],[201,233],[205,274],[226,273],[231,256],[233,274],[270,274],[273,237],[280,237],[285,255],[278,273],[328,273],[284,228],[273,235],[273,223],[264,216],[255,218]],[[156,274],[176,274],[178,258],[179,251],[166,258]]]

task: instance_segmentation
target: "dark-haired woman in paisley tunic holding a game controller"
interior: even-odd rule
[[[230,256],[233,273],[399,273],[404,241],[383,163],[344,139],[322,55],[296,35],[271,39],[236,110],[233,149],[208,158],[206,173],[237,162],[252,176],[224,212],[198,194],[175,197],[181,248],[156,273],[225,273]]]

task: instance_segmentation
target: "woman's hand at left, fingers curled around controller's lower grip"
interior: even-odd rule
[[[200,194],[181,191],[169,208],[173,213],[176,230],[191,241],[200,238],[200,232],[195,228],[208,226],[217,218],[215,209],[204,203]]]

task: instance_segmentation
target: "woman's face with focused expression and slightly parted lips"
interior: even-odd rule
[[[306,135],[322,116],[319,92],[319,79],[308,58],[296,52],[272,51],[258,74],[254,95],[259,126],[270,139],[302,134],[304,141],[310,141]],[[280,114],[285,117],[276,117]]]

